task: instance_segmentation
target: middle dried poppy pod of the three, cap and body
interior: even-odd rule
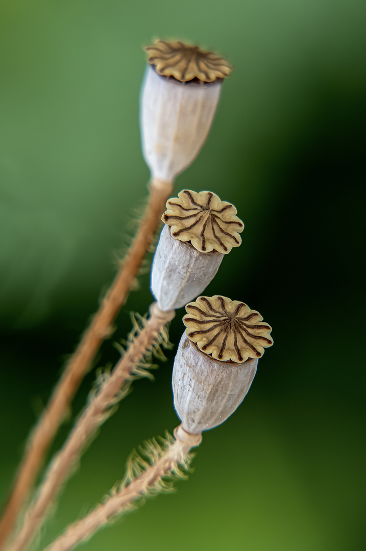
[[[241,243],[236,208],[211,191],[169,199],[155,252],[151,289],[161,310],[185,306],[213,279],[225,254]]]

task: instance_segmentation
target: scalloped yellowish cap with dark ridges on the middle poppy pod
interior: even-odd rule
[[[166,203],[162,220],[174,239],[190,242],[200,252],[227,254],[241,244],[244,224],[236,208],[211,191],[181,191]]]

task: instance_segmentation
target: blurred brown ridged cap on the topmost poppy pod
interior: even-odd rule
[[[144,50],[148,63],[154,65],[158,74],[174,77],[180,82],[198,79],[201,83],[214,82],[228,77],[232,67],[216,53],[206,52],[198,46],[184,42],[155,40]]]

